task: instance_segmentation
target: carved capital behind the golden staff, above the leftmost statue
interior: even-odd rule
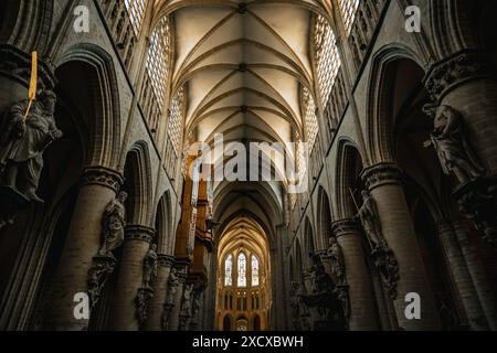
[[[39,89],[53,89],[56,85],[53,71],[40,58],[38,66]],[[31,78],[31,53],[24,53],[13,45],[0,45],[0,75],[29,87]]]

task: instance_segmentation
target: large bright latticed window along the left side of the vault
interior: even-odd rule
[[[159,109],[162,109],[168,82],[169,53],[171,46],[170,23],[162,18],[150,36],[147,57],[147,72],[156,94]]]

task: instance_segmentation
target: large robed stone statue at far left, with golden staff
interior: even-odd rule
[[[1,183],[27,199],[43,202],[36,195],[43,152],[63,133],[55,126],[56,96],[50,90],[38,95],[28,116],[28,100],[12,105],[0,127]]]

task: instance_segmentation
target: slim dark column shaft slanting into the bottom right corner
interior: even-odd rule
[[[485,317],[487,318],[490,330],[497,330],[497,303],[494,291],[490,287],[490,281],[485,270],[485,265],[480,259],[478,249],[472,244],[468,234],[463,224],[454,224],[457,242],[466,261],[467,269],[473,279],[476,293],[482,304]]]

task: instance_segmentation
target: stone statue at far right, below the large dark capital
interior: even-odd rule
[[[454,173],[462,184],[482,176],[485,169],[467,141],[461,114],[450,106],[440,106],[435,114],[427,113],[434,117],[434,130],[424,146],[435,148],[444,173]]]

